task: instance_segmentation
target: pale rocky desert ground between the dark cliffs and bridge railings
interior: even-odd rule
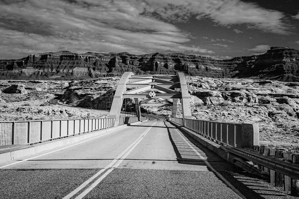
[[[82,81],[0,80],[0,121],[104,118],[120,77]],[[257,123],[260,144],[299,153],[299,83],[187,76],[196,119]],[[6,93],[13,84],[21,93]],[[50,104],[61,94],[63,105]],[[133,111],[132,100],[126,110]],[[81,107],[81,108],[80,108]],[[105,111],[106,110],[106,111]],[[170,116],[170,107],[144,107],[144,113]],[[180,115],[178,115],[180,116]]]

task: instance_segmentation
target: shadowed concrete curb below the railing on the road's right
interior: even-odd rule
[[[216,142],[205,138],[202,135],[199,135],[189,129],[187,129],[186,127],[183,127],[179,124],[174,123],[173,121],[169,121],[171,124],[173,124],[175,127],[181,129],[182,131],[184,131],[185,133],[187,133],[190,137],[192,137],[193,139],[195,139],[197,142],[199,142],[200,144],[202,144],[203,146],[205,146],[206,148],[210,149],[211,151],[215,152],[217,155],[219,155],[221,158],[223,158],[226,161],[229,161],[229,153],[226,152],[223,146],[221,146],[220,144],[217,144]]]

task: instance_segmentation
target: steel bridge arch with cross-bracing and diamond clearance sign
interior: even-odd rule
[[[177,72],[176,76],[142,76],[134,75],[133,72],[123,73],[109,114],[109,118],[115,118],[114,126],[118,125],[124,98],[135,99],[136,113],[139,118],[141,117],[140,106],[172,106],[172,117],[175,118],[179,105],[178,99],[181,99],[183,118],[191,118],[187,81],[182,72]],[[154,99],[161,103],[148,103]],[[167,99],[173,99],[173,101]]]

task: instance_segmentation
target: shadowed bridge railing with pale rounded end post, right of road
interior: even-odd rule
[[[225,146],[253,148],[259,145],[257,124],[169,118],[170,121],[216,141]]]

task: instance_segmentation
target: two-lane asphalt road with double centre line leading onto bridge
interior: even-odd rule
[[[289,198],[193,143],[142,122],[0,165],[0,198]]]

